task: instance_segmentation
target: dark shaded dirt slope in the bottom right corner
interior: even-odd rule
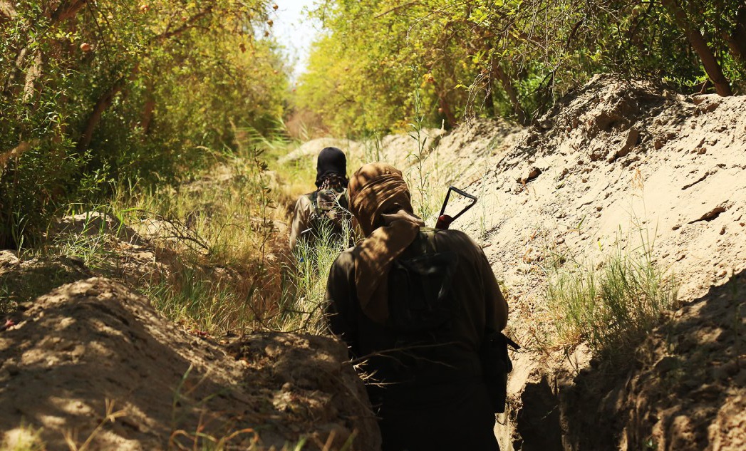
[[[560,389],[561,419],[545,418],[561,422],[564,449],[744,449],[745,303],[742,271],[653,331],[632,370],[581,370]]]

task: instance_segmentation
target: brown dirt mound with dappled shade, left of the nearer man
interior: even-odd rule
[[[304,449],[338,449],[353,432],[357,449],[378,445],[346,350],[330,339],[251,335],[226,353],[101,278],[61,286],[21,310],[0,332],[7,447],[30,428],[41,428],[48,450],[68,450],[65,434],[99,450],[221,439],[229,449],[263,450],[304,438]]]

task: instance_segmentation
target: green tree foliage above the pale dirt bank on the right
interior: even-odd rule
[[[728,95],[746,77],[742,0],[335,0],[296,98],[336,133],[401,128],[420,90],[430,125],[529,123],[598,72]]]

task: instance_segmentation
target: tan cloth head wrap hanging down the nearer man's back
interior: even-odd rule
[[[350,211],[366,235],[354,251],[357,297],[366,316],[385,324],[389,268],[424,222],[414,215],[407,183],[392,165],[363,165],[351,177],[348,193]]]

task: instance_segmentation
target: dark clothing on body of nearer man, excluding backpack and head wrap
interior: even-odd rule
[[[359,252],[354,248],[342,253],[330,271],[330,329],[342,335],[354,356],[369,356],[363,368],[380,384],[369,384],[368,390],[372,403],[380,408],[384,450],[497,450],[480,347],[486,333],[504,327],[507,304],[486,257],[466,234],[421,232],[399,259],[418,259],[422,248],[455,260],[451,280],[443,280],[454,301],[451,318],[433,329],[396,327],[402,309],[393,303],[407,300],[395,294],[401,288],[395,267],[388,280],[392,318],[386,325],[367,318],[354,289]],[[460,432],[444,438],[433,434],[438,430]]]

